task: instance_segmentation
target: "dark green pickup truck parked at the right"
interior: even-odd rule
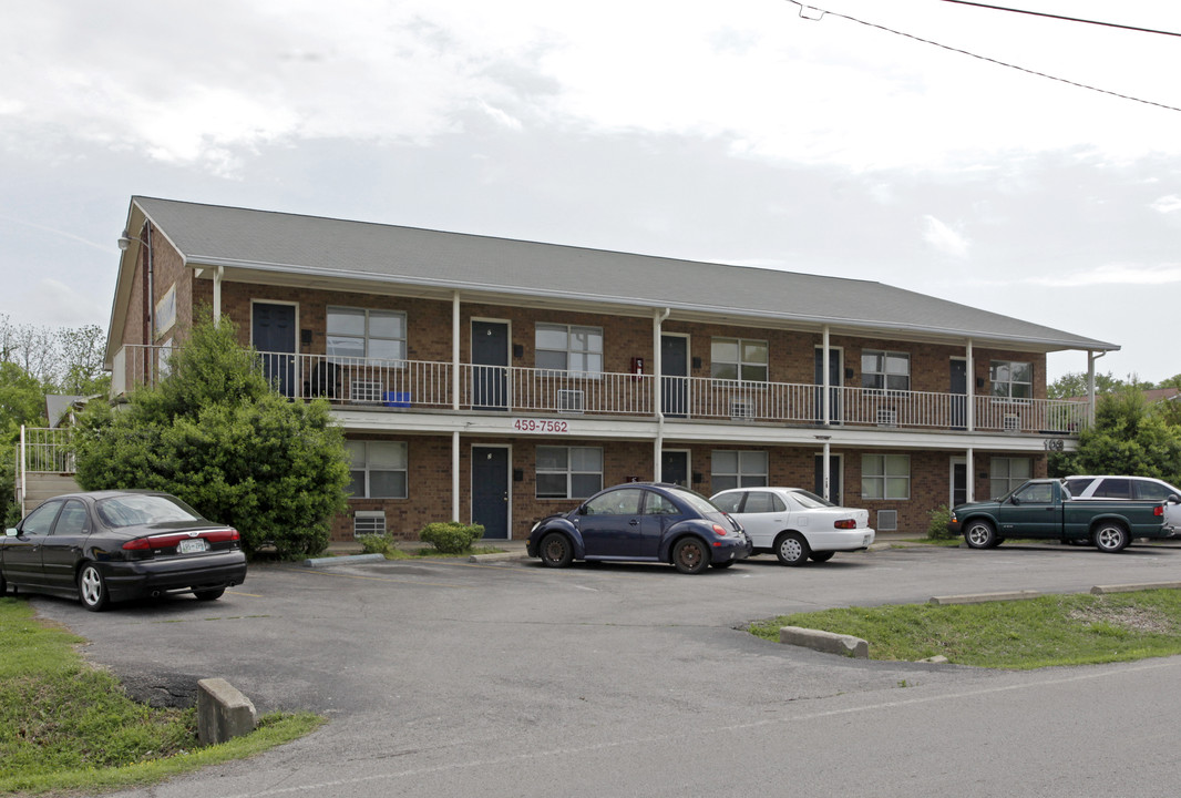
[[[1163,501],[1072,499],[1056,479],[1025,482],[1003,499],[960,505],[947,525],[972,549],[992,549],[1005,538],[1050,538],[1090,543],[1117,552],[1134,538],[1168,538]]]

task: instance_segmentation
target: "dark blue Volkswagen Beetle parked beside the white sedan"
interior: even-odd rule
[[[671,563],[681,573],[700,573],[709,565],[729,567],[745,559],[751,543],[738,521],[699,493],[627,482],[537,521],[527,551],[549,567],[581,559]]]

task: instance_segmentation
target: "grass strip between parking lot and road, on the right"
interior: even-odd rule
[[[959,664],[1017,670],[1123,662],[1181,654],[1181,591],[848,608],[784,615],[749,630],[778,641],[779,627],[861,637],[873,660],[942,655]]]

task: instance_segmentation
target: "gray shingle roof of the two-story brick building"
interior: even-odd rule
[[[1046,350],[1118,349],[869,280],[151,197],[132,202],[189,264],[671,307],[752,322],[831,324]]]

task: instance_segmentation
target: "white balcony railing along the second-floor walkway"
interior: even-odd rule
[[[116,387],[154,382],[167,372],[163,352],[124,346]],[[292,398],[324,396],[334,404],[389,409],[494,410],[599,416],[655,415],[657,378],[634,374],[582,374],[518,366],[452,365],[260,352],[263,372]],[[122,369],[122,371],[119,371]],[[120,382],[122,376],[122,382]],[[670,419],[743,423],[824,423],[824,389],[792,383],[660,377],[660,409]],[[850,427],[948,429],[1071,436],[1087,424],[1085,402],[976,396],[968,414],[959,394],[830,387],[830,423]]]

